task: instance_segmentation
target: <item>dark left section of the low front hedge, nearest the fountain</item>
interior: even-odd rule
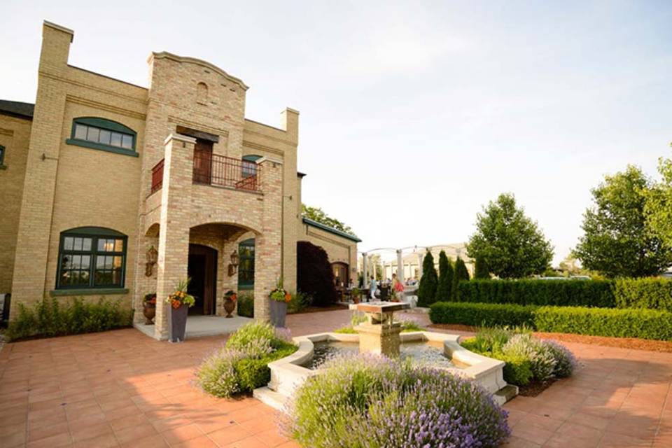
[[[429,318],[433,323],[486,327],[532,325],[534,309],[517,304],[436,302],[430,307]]]

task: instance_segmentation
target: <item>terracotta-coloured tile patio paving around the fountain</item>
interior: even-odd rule
[[[348,321],[346,310],[287,319],[293,335]],[[6,344],[0,447],[296,447],[271,408],[193,386],[195,366],[225,339],[168,344],[126,329]],[[580,369],[505,405],[507,447],[672,446],[672,353],[567,345]]]

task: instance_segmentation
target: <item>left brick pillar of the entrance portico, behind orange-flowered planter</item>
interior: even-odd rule
[[[189,216],[196,139],[171,134],[165,141],[154,337],[167,339],[169,305],[165,300],[187,278]]]

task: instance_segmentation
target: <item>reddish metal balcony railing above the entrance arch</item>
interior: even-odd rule
[[[152,189],[163,186],[162,159],[152,168]],[[193,183],[244,191],[261,191],[261,167],[255,162],[239,160],[212,153],[195,153]]]

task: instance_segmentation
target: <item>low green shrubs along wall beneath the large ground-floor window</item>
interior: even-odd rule
[[[74,335],[129,327],[133,323],[133,310],[123,309],[118,301],[101,298],[98,302],[85,302],[77,297],[66,303],[62,300],[44,298],[31,307],[19,303],[18,316],[10,322],[6,337],[15,340]]]

